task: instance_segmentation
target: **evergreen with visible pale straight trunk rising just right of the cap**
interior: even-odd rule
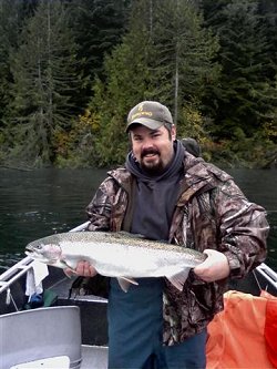
[[[183,105],[198,107],[216,84],[217,40],[203,27],[194,1],[162,0],[154,2],[151,43],[154,95],[171,107],[175,124],[182,124]]]

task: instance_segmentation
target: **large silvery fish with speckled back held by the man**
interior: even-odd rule
[[[166,277],[182,290],[191,268],[206,255],[191,248],[148,240],[125,232],[72,232],[31,242],[25,254],[60,268],[88,260],[99,274],[116,277],[124,291],[135,278]]]

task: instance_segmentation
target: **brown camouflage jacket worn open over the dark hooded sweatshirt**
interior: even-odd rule
[[[186,154],[184,178],[168,240],[226,255],[230,278],[242,278],[266,257],[268,224],[263,207],[246,199],[233,178],[202,158]],[[135,180],[124,167],[109,172],[88,206],[90,230],[129,230]],[[227,279],[205,283],[191,271],[183,291],[165,281],[164,344],[202,331],[223,309]]]

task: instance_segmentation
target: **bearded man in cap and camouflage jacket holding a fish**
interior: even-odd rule
[[[164,278],[141,278],[124,293],[111,278],[109,368],[205,368],[206,327],[223,309],[227,278],[244,277],[266,257],[265,212],[228,174],[183,147],[161,103],[134,106],[126,132],[132,151],[88,206],[89,229],[142,234],[207,258],[182,293]],[[80,262],[76,274],[96,270]]]

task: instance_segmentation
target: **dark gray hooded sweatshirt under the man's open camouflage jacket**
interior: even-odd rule
[[[164,172],[157,176],[145,173],[132,152],[126,168],[136,177],[136,194],[131,232],[146,238],[168,240],[172,215],[183,178],[185,151],[179,141],[174,142],[175,155]]]

